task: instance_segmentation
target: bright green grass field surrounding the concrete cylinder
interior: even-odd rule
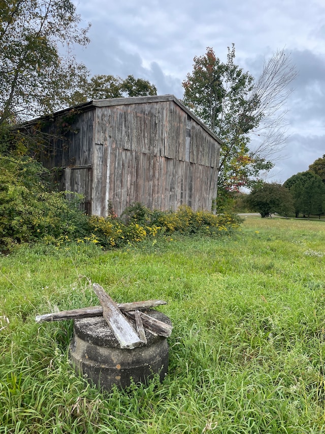
[[[174,237],[173,237],[174,238]],[[325,225],[246,218],[232,237],[0,256],[0,433],[325,432]],[[165,299],[163,384],[100,393],[68,359],[55,309]]]

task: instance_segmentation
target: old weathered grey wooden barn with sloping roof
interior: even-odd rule
[[[89,214],[109,202],[117,215],[134,202],[211,210],[221,141],[173,95],[93,100],[32,125],[47,137],[42,163]]]

